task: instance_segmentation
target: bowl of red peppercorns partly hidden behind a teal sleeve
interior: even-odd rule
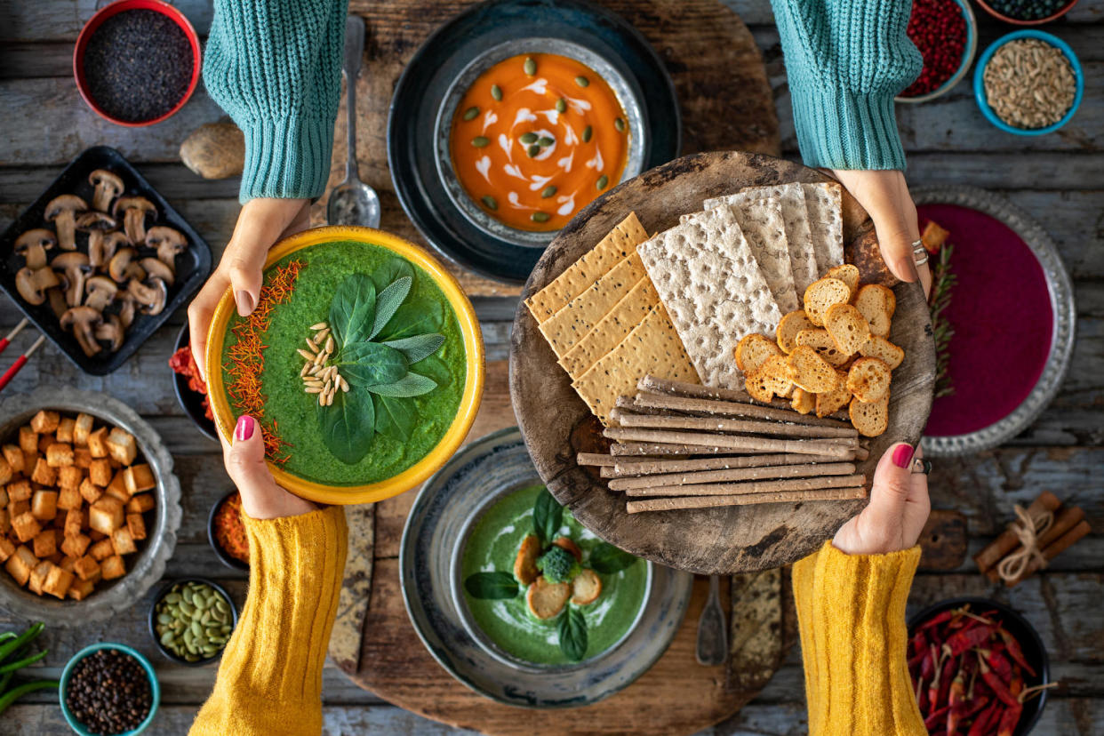
[[[966,76],[977,52],[977,19],[968,0],[914,0],[909,38],[924,57],[924,68],[896,102],[926,103]]]

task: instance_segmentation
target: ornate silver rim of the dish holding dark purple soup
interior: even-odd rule
[[[1044,408],[1058,394],[1070,365],[1073,352],[1074,323],[1076,309],[1073,302],[1073,286],[1070,275],[1058,254],[1058,247],[1050,235],[1027,213],[1011,204],[1008,200],[973,186],[917,186],[912,191],[917,205],[956,205],[988,215],[1011,230],[1039,262],[1045,278],[1053,324],[1050,333],[1050,350],[1045,363],[1022,402],[1004,417],[985,427],[958,435],[938,437],[925,436],[922,440],[924,452],[934,457],[949,457],[978,452],[1016,437],[1027,429],[1039,417]],[[952,231],[951,242],[955,242]],[[951,268],[954,270],[955,259],[952,257]],[[992,279],[995,287],[1000,284],[1000,259],[992,260]],[[958,287],[955,287],[958,288]],[[952,303],[954,290],[952,290]],[[952,327],[954,327],[952,324]],[[953,359],[953,355],[952,355]],[[1005,370],[1018,370],[1020,366],[1006,366]],[[938,407],[933,407],[933,414]]]

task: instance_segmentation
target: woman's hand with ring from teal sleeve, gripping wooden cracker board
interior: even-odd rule
[[[836,169],[832,173],[874,221],[882,259],[890,271],[902,281],[920,279],[927,296],[932,290],[932,270],[926,263],[917,267],[912,252],[912,244],[920,239],[920,225],[904,173],[848,169]]]

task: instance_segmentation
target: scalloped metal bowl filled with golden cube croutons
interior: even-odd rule
[[[0,608],[76,626],[131,607],[181,515],[172,456],[121,402],[63,386],[0,404]]]

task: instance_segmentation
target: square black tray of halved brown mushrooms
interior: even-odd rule
[[[0,254],[0,288],[93,375],[123,365],[211,271],[208,244],[106,146],[62,171]]]

